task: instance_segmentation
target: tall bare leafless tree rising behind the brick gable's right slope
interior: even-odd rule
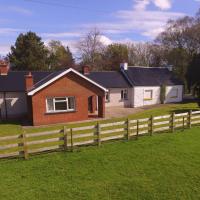
[[[81,56],[81,64],[89,64],[93,69],[98,69],[102,62],[102,51],[104,45],[101,42],[102,34],[98,29],[93,29],[87,33],[77,44]]]

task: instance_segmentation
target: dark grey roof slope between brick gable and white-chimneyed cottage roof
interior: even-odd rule
[[[106,88],[131,87],[123,74],[117,71],[91,72],[86,76]]]

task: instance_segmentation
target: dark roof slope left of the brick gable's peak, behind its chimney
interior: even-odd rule
[[[0,76],[0,92],[25,92],[25,78],[29,71],[10,71],[8,75]],[[47,77],[52,72],[31,72],[34,84]]]

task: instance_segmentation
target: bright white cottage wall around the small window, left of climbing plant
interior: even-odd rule
[[[151,100],[144,100],[145,90],[153,90]],[[134,87],[133,88],[133,107],[141,107],[146,105],[154,105],[160,103],[160,87]]]

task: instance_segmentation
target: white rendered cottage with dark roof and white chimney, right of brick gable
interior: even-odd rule
[[[120,70],[90,72],[92,80],[106,87],[106,107],[142,107],[161,103],[161,88],[165,87],[164,103],[183,100],[183,83],[172,68],[120,65]]]

